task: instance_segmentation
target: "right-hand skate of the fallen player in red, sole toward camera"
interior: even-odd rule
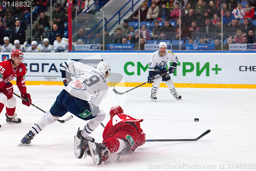
[[[88,145],[93,161],[96,165],[100,165],[102,163],[102,156],[107,157],[110,153],[104,144],[88,141]]]

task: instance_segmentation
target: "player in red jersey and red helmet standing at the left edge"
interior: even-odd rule
[[[26,106],[30,106],[31,97],[27,93],[25,85],[26,66],[22,63],[24,59],[23,52],[20,50],[12,50],[11,59],[0,63],[0,113],[6,105],[6,121],[20,123],[22,120],[16,118],[16,98],[13,96],[13,87],[11,80],[17,79],[16,84],[22,97],[27,100],[22,101]]]

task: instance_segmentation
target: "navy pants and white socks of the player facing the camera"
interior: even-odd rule
[[[155,75],[154,75],[154,77],[156,78],[159,75],[164,74],[165,72],[167,72],[166,68],[163,68],[163,69],[155,68]],[[160,86],[161,81],[163,81],[168,86],[168,88],[170,90],[170,93],[175,94],[177,92],[176,88],[175,88],[175,85],[174,85],[174,82],[173,82],[173,80],[170,79],[170,75],[169,74],[166,74],[166,75],[164,75],[162,77],[159,77],[159,78],[154,80],[154,83],[152,85],[152,92],[156,92],[157,93],[157,90],[158,90],[158,88]]]

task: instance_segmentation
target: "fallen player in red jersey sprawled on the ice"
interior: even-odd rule
[[[132,153],[145,143],[146,136],[140,128],[143,119],[135,119],[124,114],[120,106],[110,109],[110,118],[103,131],[102,143],[80,141],[80,144],[75,144],[77,158],[82,158],[85,153],[92,156],[97,165],[102,161],[115,162],[119,159],[119,155]]]

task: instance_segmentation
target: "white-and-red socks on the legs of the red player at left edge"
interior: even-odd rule
[[[7,96],[4,93],[0,93],[0,113],[6,105],[6,113],[9,118],[12,118],[16,108],[16,98],[12,96],[10,99],[7,99]]]

